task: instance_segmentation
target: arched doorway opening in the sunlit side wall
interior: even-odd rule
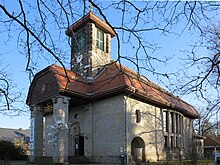
[[[131,155],[133,156],[134,161],[145,162],[145,143],[144,140],[140,137],[135,137],[131,141]]]

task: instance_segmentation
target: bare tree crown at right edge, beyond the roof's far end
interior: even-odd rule
[[[175,90],[182,94],[193,93],[206,101],[209,111],[217,110],[219,113],[220,26],[205,27],[201,40],[187,51],[183,61],[184,67],[178,72],[181,76],[176,79]]]

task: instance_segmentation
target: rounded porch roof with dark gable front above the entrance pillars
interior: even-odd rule
[[[53,64],[35,75],[26,102],[28,105],[42,103],[74,87],[77,87],[77,91],[73,90],[72,93],[84,94],[87,88],[81,84],[87,86],[87,81],[80,75]]]

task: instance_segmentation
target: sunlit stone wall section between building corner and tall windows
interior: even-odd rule
[[[146,161],[163,159],[163,131],[161,113],[158,107],[126,97],[127,105],[127,154],[132,161],[131,143],[140,137],[145,143],[142,151]],[[140,123],[136,122],[136,110],[141,112]]]

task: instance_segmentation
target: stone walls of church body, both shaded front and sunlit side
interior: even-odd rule
[[[136,110],[141,112],[137,123]],[[183,144],[181,148],[164,147],[163,110],[160,107],[118,95],[87,105],[69,108],[68,156],[76,156],[75,137],[84,139],[84,154],[92,162],[120,163],[125,155],[127,163],[134,163],[134,155],[141,154],[142,161],[179,160],[180,149],[184,158],[189,157],[192,125],[184,117]],[[45,156],[54,156],[57,147],[52,140],[53,114],[45,116]],[[141,138],[144,147],[132,147],[132,141]],[[133,150],[133,151],[132,151]]]

